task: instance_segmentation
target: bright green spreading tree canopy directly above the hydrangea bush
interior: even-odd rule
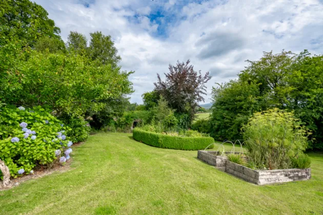
[[[80,55],[39,53],[31,50],[27,60],[16,60],[2,73],[3,102],[24,106],[46,105],[75,116],[102,110],[105,99],[132,91],[130,73],[97,67]]]

